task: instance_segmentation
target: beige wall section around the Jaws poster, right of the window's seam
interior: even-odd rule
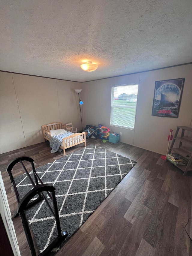
[[[155,81],[185,77],[179,118],[152,116]],[[141,73],[135,124],[134,145],[166,153],[169,130],[190,126],[192,118],[192,65]],[[175,131],[173,132],[173,134]]]

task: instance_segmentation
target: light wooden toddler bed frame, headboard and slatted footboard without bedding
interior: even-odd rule
[[[72,129],[70,126],[64,125],[62,122],[42,125],[41,128],[43,131],[44,141],[50,140],[51,137],[55,136],[55,135],[52,135],[52,130],[64,129],[66,131],[71,132],[71,129]],[[60,148],[63,149],[63,153],[65,155],[66,154],[65,149],[68,149],[70,147],[76,146],[81,143],[84,143],[86,146],[85,132],[75,133],[68,137],[63,138],[63,146],[60,146]]]

